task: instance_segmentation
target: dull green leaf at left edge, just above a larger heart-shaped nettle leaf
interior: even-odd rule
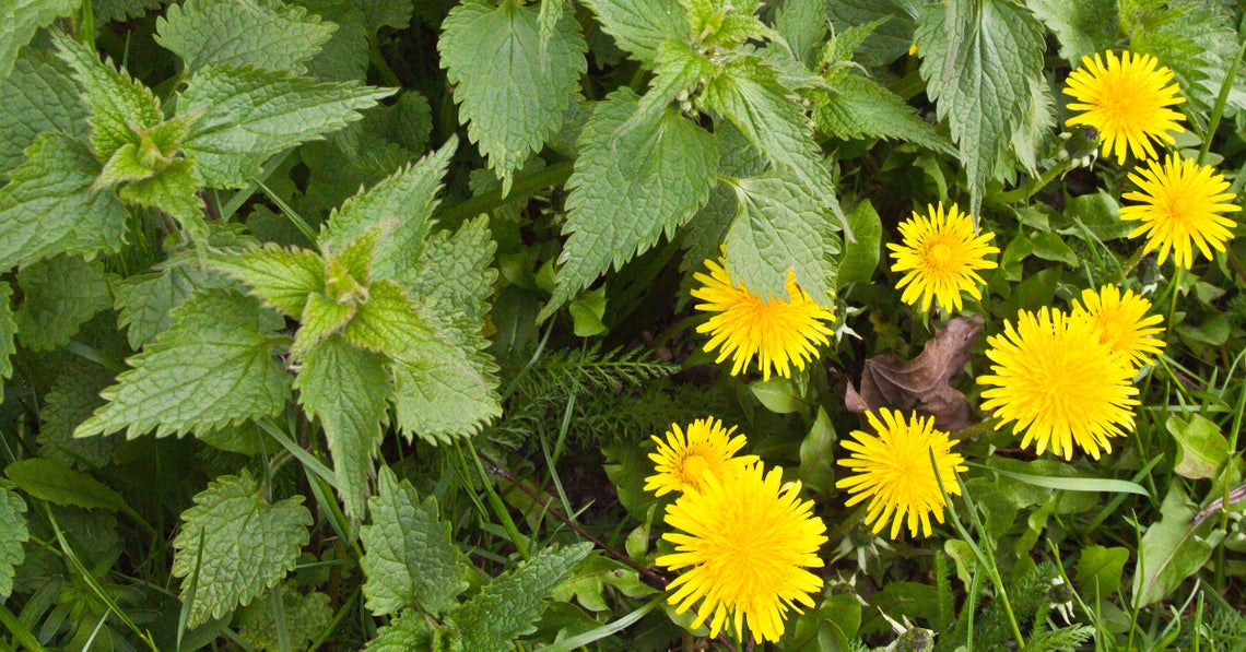
[[[87,108],[65,65],[39,50],[25,49],[9,75],[0,75],[0,174],[25,158],[22,149],[44,132],[61,132],[87,142]]]

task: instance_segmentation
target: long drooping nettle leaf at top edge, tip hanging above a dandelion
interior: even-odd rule
[[[1008,0],[948,0],[922,10],[913,39],[922,49],[926,92],[959,146],[969,213],[977,215],[1033,101],[1030,81],[1042,81],[1043,25]]]

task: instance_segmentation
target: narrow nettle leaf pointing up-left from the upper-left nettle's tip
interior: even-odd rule
[[[61,58],[86,88],[91,108],[91,144],[101,161],[126,143],[138,143],[138,133],[164,121],[159,100],[112,61],[100,61],[93,50],[60,32],[52,32]]]

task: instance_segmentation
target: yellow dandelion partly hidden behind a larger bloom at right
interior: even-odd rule
[[[1099,340],[1113,351],[1121,351],[1134,368],[1149,365],[1164,350],[1164,340],[1155,335],[1164,331],[1159,325],[1164,317],[1146,315],[1151,302],[1135,295],[1133,290],[1120,294],[1120,287],[1104,285],[1098,292],[1082,291],[1082,302],[1073,302],[1073,314],[1085,312],[1099,330]]]

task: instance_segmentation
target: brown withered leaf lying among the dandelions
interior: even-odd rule
[[[921,355],[910,361],[896,356],[873,356],[861,371],[861,389],[847,383],[844,402],[852,412],[891,408],[917,409],[934,417],[934,427],[957,432],[977,418],[964,394],[951,381],[969,360],[969,350],[982,336],[982,317],[956,317],[926,342]]]

